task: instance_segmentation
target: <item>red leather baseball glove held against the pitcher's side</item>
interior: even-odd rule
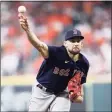
[[[68,82],[69,98],[73,101],[78,96],[81,96],[81,74],[77,72]]]

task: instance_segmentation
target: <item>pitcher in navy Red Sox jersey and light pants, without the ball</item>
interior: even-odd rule
[[[25,15],[19,14],[21,27],[44,61],[32,88],[29,111],[70,111],[71,103],[83,101],[83,83],[89,62],[80,53],[84,37],[77,29],[66,32],[62,46],[50,46],[31,31]]]

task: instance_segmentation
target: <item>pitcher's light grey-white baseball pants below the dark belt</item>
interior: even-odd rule
[[[62,92],[59,95],[54,95],[43,91],[37,87],[36,83],[32,87],[32,95],[29,103],[29,112],[32,111],[70,111],[71,101],[68,93]]]

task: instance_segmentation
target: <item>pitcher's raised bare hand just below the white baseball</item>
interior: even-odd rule
[[[29,30],[29,25],[28,25],[27,18],[22,13],[19,13],[18,17],[19,17],[19,23],[20,23],[21,27],[25,31],[28,31]]]

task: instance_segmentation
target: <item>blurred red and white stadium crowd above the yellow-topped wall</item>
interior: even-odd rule
[[[62,45],[67,30],[81,30],[89,74],[111,72],[110,2],[2,2],[1,75],[36,74],[43,60],[19,25],[19,5],[26,6],[30,27],[47,44]]]

